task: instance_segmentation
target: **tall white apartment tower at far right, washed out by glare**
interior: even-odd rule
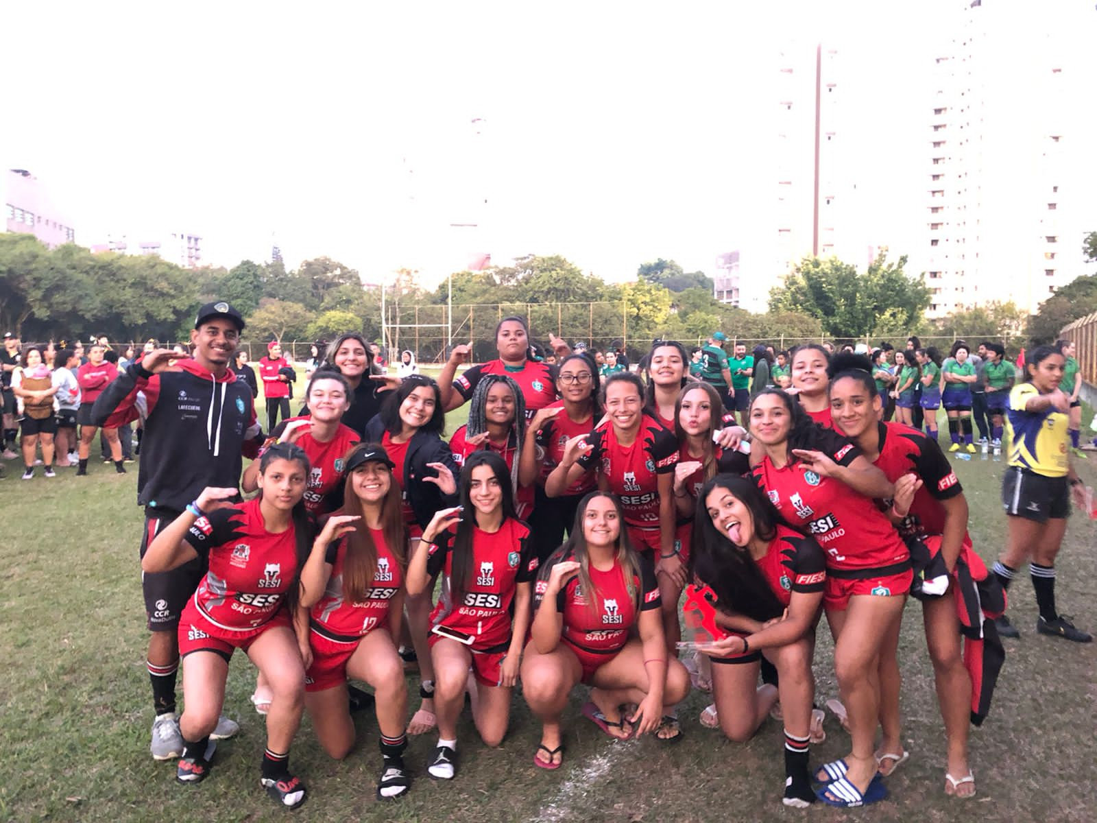
[[[925,246],[912,262],[930,317],[994,301],[1036,312],[1094,271],[1082,243],[1097,229],[1097,11],[1079,0],[960,0],[954,11],[934,66]]]

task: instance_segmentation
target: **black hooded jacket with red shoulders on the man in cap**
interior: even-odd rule
[[[251,388],[233,371],[220,377],[180,360],[149,374],[138,360],[111,381],[91,409],[94,426],[144,419],[137,503],[182,511],[206,486],[236,488],[242,453],[256,456],[262,432]]]

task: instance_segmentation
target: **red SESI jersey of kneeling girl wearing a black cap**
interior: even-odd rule
[[[377,552],[377,566],[362,602],[348,602],[343,593],[347,539],[330,543],[324,556],[331,566],[331,576],[324,596],[313,607],[310,622],[314,631],[329,640],[351,641],[365,636],[377,625],[384,625],[388,621],[388,606],[404,585],[400,564],[385,542],[385,532],[370,529],[370,537]]]

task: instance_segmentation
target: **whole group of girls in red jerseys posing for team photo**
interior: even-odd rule
[[[236,647],[259,669],[262,783],[286,807],[305,798],[287,767],[303,711],[330,756],[353,747],[349,678],[375,695],[378,798],[410,788],[409,733],[437,726],[427,771],[455,777],[466,696],[480,740],[499,745],[519,680],[542,722],[540,768],[564,760],[563,714],[580,685],[590,689],[581,713],[608,736],[677,740],[690,689],[678,604],[692,583],[714,613],[693,638],[712,664],[710,724],[746,741],[779,713],[787,805],[873,802],[908,756],[896,649],[918,546],[919,570],[947,578],[939,590],[914,587],[949,740],[946,791],[974,793],[966,723],[985,703],[965,666],[958,589],[987,575],[947,461],[918,432],[878,422],[867,363],[835,374],[823,347],[794,350],[791,391],[755,396],[740,449],[746,432],[726,425],[711,385],[689,377],[679,343],[653,345],[646,385],[627,371],[600,385],[585,354],[535,360],[524,323],[507,318],[498,360],[459,375],[471,350],[456,347],[437,383],[372,381],[393,391],[371,385],[380,408],[360,436],[342,424],[358,397],[341,372],[365,363],[361,384],[369,364],[355,343],[335,347],[338,369],[313,374],[306,414],[246,470],[244,491],[260,496],[230,504],[235,489],[206,489],[143,561],[155,572],[208,557],[180,624],[180,780],[208,773]],[[464,401],[468,422],[446,443],[445,410]],[[813,775],[822,613],[851,742]],[[410,722],[408,658],[421,698]],[[758,685],[764,661],[772,685]]]

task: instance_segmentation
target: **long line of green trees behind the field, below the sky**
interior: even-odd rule
[[[1097,233],[1093,236],[1097,252]],[[770,293],[770,309],[751,314],[717,302],[702,272],[672,260],[641,264],[636,280],[607,283],[557,255],[518,258],[485,271],[462,271],[434,290],[416,272],[387,279],[388,324],[444,324],[452,284],[454,339],[473,336],[491,354],[496,315],[528,316],[533,330],[566,339],[621,345],[634,352],[655,338],[706,338],[716,329],[746,339],[903,339],[920,335],[994,335],[1042,342],[1072,319],[1097,311],[1097,279],[1060,289],[1031,317],[1013,304],[989,304],[928,322],[929,290],[905,271],[906,257],[882,252],[864,271],[836,258],[807,257]],[[156,256],[92,253],[69,244],[48,249],[32,235],[0,235],[0,326],[24,339],[185,338],[203,302],[226,300],[248,322],[248,338],[330,339],[354,330],[381,339],[381,290],[363,288],[352,267],[321,257],[287,270],[281,260],[244,260],[231,269],[183,269]],[[407,328],[396,329],[407,348]],[[441,332],[434,332],[436,345]],[[420,340],[431,335],[420,336]],[[634,348],[635,347],[635,348]],[[433,354],[434,352],[427,352]]]

